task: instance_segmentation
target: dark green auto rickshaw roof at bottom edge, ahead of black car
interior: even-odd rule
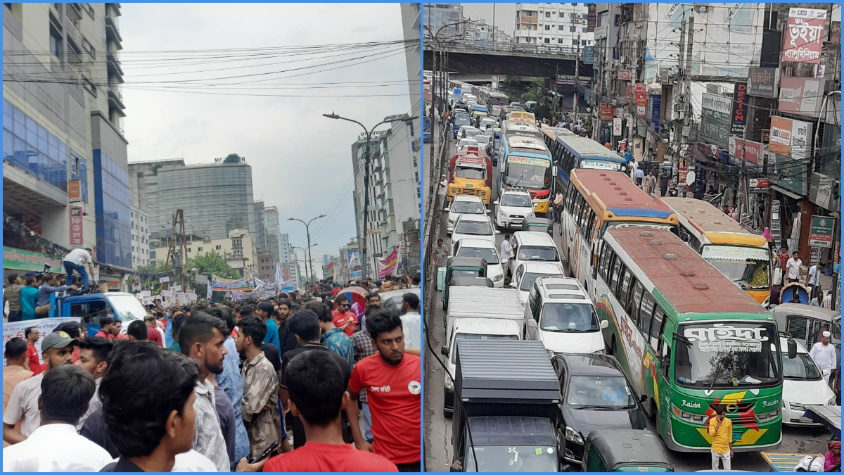
[[[657,434],[640,429],[598,429],[583,448],[583,472],[674,472]]]

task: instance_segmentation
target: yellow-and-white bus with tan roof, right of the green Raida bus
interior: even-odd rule
[[[663,198],[663,202],[677,214],[680,238],[756,302],[767,306],[773,254],[766,238],[702,199]]]

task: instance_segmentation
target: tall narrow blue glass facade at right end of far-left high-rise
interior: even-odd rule
[[[132,269],[129,173],[102,150],[94,150],[97,260]]]

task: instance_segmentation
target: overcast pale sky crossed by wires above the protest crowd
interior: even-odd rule
[[[290,242],[302,248],[307,245],[305,227],[298,221],[286,221],[287,218],[292,216],[308,221],[325,214],[327,218],[311,225],[311,243],[319,244],[311,252],[319,262],[322,262],[322,254],[338,254],[338,248],[355,236],[351,145],[362,129],[354,123],[331,120],[322,114],[336,112],[371,127],[384,117],[410,112],[406,82],[372,84],[407,81],[402,46],[352,51],[315,48],[307,54],[297,50],[297,56],[290,56],[289,51],[286,54],[276,51],[273,52],[275,56],[249,61],[231,61],[242,56],[203,58],[204,64],[195,64],[195,58],[200,55],[232,56],[231,52],[207,50],[403,40],[398,3],[122,3],[121,9],[124,48],[121,60],[126,80],[123,98],[127,106],[124,129],[129,141],[129,161],[184,158],[191,164],[214,161],[214,158],[230,153],[246,157],[246,162],[252,166],[255,199],[263,198],[265,205],[278,206],[281,232],[289,233]],[[173,53],[174,50],[203,51]],[[381,54],[371,56],[376,53]],[[341,54],[343,56],[338,56]],[[384,57],[387,55],[392,56]],[[289,72],[293,68],[363,56],[371,57]],[[374,57],[384,58],[362,63]],[[156,61],[150,63],[150,59]],[[172,64],[168,63],[170,61]],[[352,65],[337,68],[347,64]],[[220,68],[228,69],[198,72]],[[327,68],[337,69],[312,72]],[[201,86],[195,85],[189,89],[214,90],[219,95],[138,89],[181,87],[172,83],[138,84],[141,81],[203,79],[200,82],[208,84],[212,82],[210,79],[280,70],[288,72],[214,81],[241,83],[224,86],[228,89],[219,86],[199,89]],[[186,74],[172,74],[174,72]],[[161,73],[167,74],[149,75]],[[289,77],[294,74],[302,75]],[[285,76],[289,78],[283,79]],[[263,80],[242,84],[258,79]],[[311,83],[320,83],[319,89]],[[327,83],[358,84],[338,87]],[[285,89],[278,86],[268,89],[272,85],[286,86]],[[398,96],[312,97],[338,95]],[[187,225],[189,227],[190,223]],[[319,275],[317,262],[314,266]]]

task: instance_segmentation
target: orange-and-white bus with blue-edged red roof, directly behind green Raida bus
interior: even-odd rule
[[[623,172],[575,168],[565,190],[560,220],[563,253],[571,275],[595,297],[592,271],[595,252],[610,226],[655,226],[679,235],[677,216],[662,201],[648,196]]]

